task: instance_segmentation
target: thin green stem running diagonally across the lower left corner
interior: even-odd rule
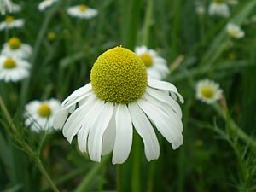
[[[3,102],[2,96],[0,96],[0,108],[2,109],[3,115],[7,119],[7,122],[9,123],[10,128],[11,128],[11,130],[13,131],[13,133],[15,135],[14,138],[15,138],[16,142],[20,143],[20,145],[26,151],[26,154],[28,154],[32,158],[32,160],[36,163],[36,165],[38,166],[39,171],[42,173],[42,175],[45,177],[46,181],[49,183],[50,188],[54,192],[60,192],[59,189],[56,188],[55,183],[53,183],[53,181],[49,177],[49,174],[46,172],[41,160],[38,158],[38,155],[33,152],[32,148],[30,148],[27,143],[25,143],[23,140],[20,140],[20,138],[22,138],[20,136],[20,132],[16,128],[16,126],[15,126],[15,124],[14,124],[14,122],[13,122],[13,120],[12,120],[10,114],[9,114],[9,111],[7,110],[7,108],[6,108],[6,106]]]

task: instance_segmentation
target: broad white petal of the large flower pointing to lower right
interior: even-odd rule
[[[169,143],[172,143],[172,148],[176,149],[183,143],[183,135],[177,127],[177,120],[172,116],[167,116],[160,108],[155,107],[153,104],[139,100],[137,104],[147,114],[148,118],[153,122],[160,133],[166,138]]]

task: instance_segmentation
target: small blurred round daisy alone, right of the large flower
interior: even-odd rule
[[[201,102],[211,104],[222,97],[222,90],[219,84],[210,79],[204,79],[196,84],[196,98]]]

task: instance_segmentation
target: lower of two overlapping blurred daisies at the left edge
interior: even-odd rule
[[[27,61],[5,55],[0,56],[0,80],[17,82],[29,75],[30,64]]]

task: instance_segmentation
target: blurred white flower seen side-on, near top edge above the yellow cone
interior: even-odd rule
[[[96,9],[92,9],[84,4],[76,5],[67,9],[67,14],[80,19],[90,19],[98,14]]]

